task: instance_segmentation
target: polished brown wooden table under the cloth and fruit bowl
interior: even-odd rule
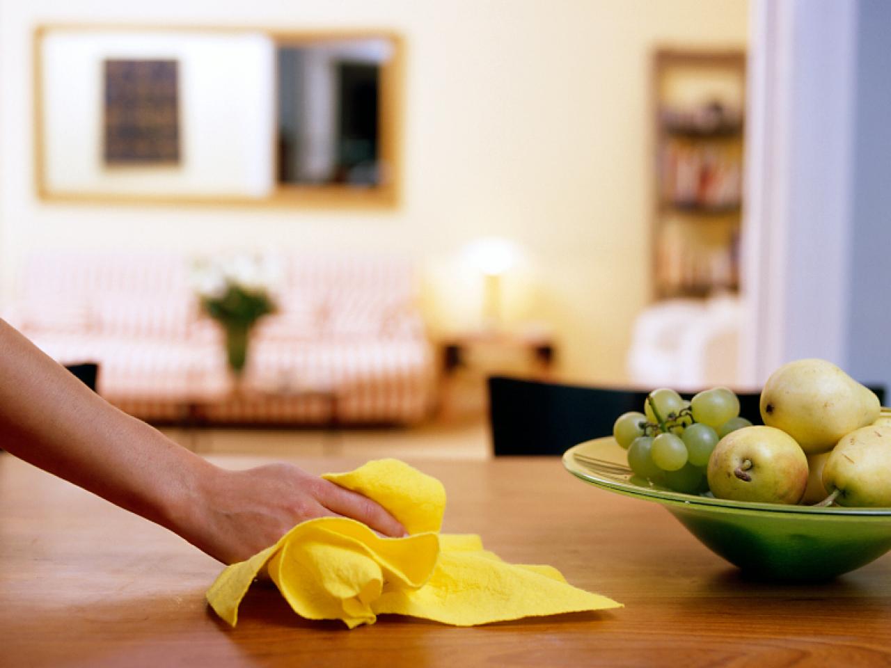
[[[297,463],[321,473],[361,462]],[[509,561],[557,566],[625,608],[470,629],[388,615],[347,631],[255,588],[230,629],[204,603],[217,562],[3,454],[0,665],[891,664],[891,556],[828,584],[750,582],[658,505],[584,485],[559,460],[419,468],[446,485],[446,531],[481,534]]]

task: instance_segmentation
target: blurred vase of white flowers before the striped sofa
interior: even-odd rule
[[[195,267],[201,310],[223,328],[226,360],[236,380],[248,363],[251,330],[275,312],[273,282],[274,267],[261,257],[237,256]]]

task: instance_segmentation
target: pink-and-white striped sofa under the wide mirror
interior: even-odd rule
[[[257,324],[237,391],[222,332],[200,314],[183,256],[36,254],[4,318],[61,363],[100,363],[100,394],[143,420],[423,420],[434,356],[412,265],[396,257],[278,259],[279,309]]]

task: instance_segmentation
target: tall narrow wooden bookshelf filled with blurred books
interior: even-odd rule
[[[739,289],[745,86],[741,49],[653,54],[655,299]]]

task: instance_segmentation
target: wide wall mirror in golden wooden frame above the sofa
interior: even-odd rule
[[[395,206],[403,57],[383,31],[42,27],[37,192]]]

